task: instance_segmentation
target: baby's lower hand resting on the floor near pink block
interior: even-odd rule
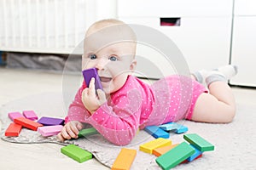
[[[79,138],[79,131],[84,127],[81,122],[72,121],[68,122],[58,133],[58,138],[63,142],[66,139],[77,139]]]

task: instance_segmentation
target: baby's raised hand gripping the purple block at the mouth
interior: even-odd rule
[[[95,79],[91,78],[89,88],[84,88],[82,93],[82,102],[84,107],[93,114],[103,103],[107,101],[105,93],[97,89],[95,93]]]

